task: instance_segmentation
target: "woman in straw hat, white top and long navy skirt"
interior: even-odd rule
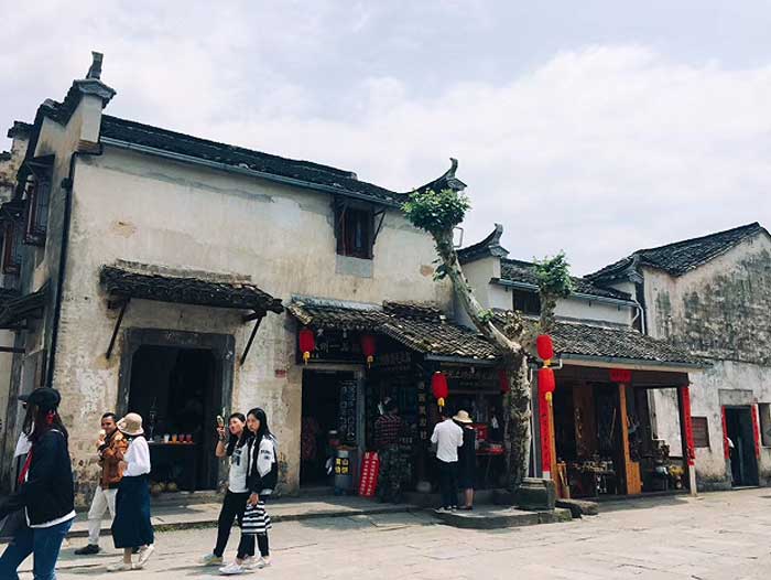
[[[118,485],[116,517],[112,520],[112,540],[116,548],[123,548],[123,561],[108,567],[111,572],[139,570],[155,551],[148,488],[150,448],[144,439],[142,417],[130,412],[118,421],[118,429],[129,440],[129,449],[123,453],[123,479]],[[138,547],[139,560],[132,562],[131,554]]]

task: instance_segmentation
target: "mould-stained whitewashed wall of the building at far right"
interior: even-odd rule
[[[729,486],[720,393],[771,401],[771,240],[759,235],[680,278],[643,272],[649,333],[714,364],[692,375],[692,413],[707,417],[710,440],[709,449],[696,450],[696,469],[704,486]],[[660,432],[680,437],[671,401],[653,400]],[[771,476],[771,449],[761,451],[760,472],[761,480]]]

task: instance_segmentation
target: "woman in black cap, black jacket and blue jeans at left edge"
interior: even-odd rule
[[[54,580],[62,543],[75,518],[67,430],[57,411],[62,397],[52,388],[39,388],[20,399],[26,402],[23,432],[32,448],[19,488],[0,505],[0,518],[11,514],[20,519],[0,557],[0,578],[18,580],[17,569],[32,554],[35,580]]]

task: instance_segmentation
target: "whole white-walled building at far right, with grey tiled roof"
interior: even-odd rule
[[[760,224],[631,256],[589,276],[630,289],[651,336],[710,363],[693,378],[699,486],[771,481],[771,237]],[[672,397],[654,398],[654,423],[675,440]],[[730,440],[730,441],[729,441]]]

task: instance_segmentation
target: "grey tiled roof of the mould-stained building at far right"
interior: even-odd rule
[[[757,222],[656,248],[640,249],[601,270],[587,276],[590,279],[610,279],[636,265],[650,266],[672,276],[682,276],[725,254],[742,240],[768,232]]]

